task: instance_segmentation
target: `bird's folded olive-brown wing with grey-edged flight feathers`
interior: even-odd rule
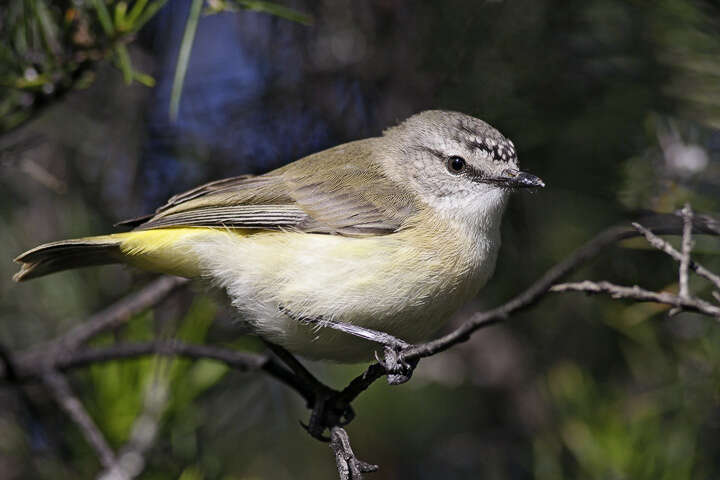
[[[175,195],[154,215],[128,224],[139,230],[223,226],[348,236],[395,232],[417,211],[417,204],[404,186],[387,178],[362,142],[311,155],[265,175],[202,185]]]

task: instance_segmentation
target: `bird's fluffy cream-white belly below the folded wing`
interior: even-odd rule
[[[213,242],[196,251],[213,252],[203,269],[227,290],[243,321],[293,353],[340,362],[371,359],[381,348],[322,320],[426,340],[477,293],[495,262],[494,252],[473,262],[447,255],[447,243],[438,251],[419,248],[403,233],[228,233]]]

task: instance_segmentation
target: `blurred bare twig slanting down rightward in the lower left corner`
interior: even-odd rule
[[[60,407],[80,428],[85,440],[95,450],[100,463],[105,468],[112,468],[115,464],[115,454],[108,445],[105,437],[95,422],[83,407],[83,404],[70,389],[65,377],[57,371],[51,370],[43,374],[43,382],[55,397]]]

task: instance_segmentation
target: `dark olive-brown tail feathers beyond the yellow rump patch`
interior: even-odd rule
[[[22,282],[71,268],[118,263],[121,259],[120,240],[111,235],[46,243],[15,259],[21,266],[13,280]]]

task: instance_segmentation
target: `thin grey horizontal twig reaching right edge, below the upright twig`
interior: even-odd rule
[[[720,318],[720,307],[716,307],[699,298],[681,297],[667,292],[651,292],[638,286],[624,287],[610,282],[591,282],[585,280],[576,283],[559,283],[553,285],[552,292],[586,292],[608,293],[613,298],[629,298],[641,302],[655,302],[671,305],[683,310],[704,313],[711,317]]]

